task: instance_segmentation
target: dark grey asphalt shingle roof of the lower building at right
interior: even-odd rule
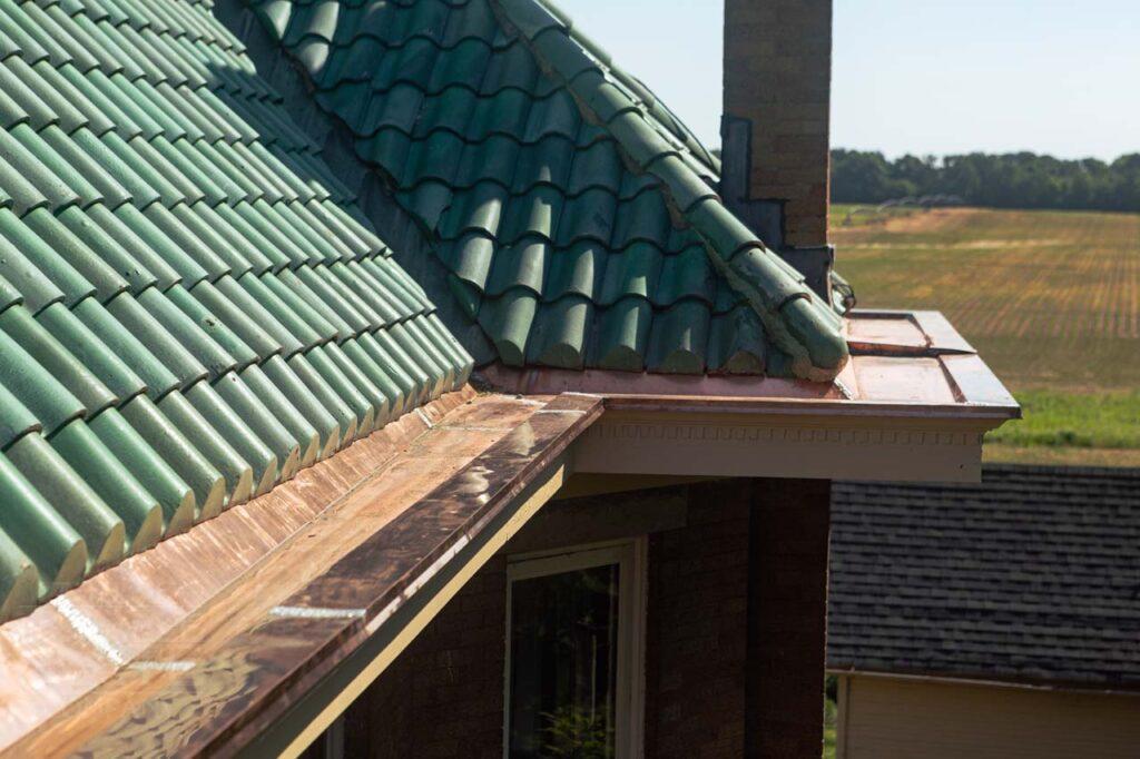
[[[1140,688],[1140,471],[836,483],[828,664]]]

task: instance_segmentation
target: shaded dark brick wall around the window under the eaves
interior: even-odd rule
[[[622,537],[618,512],[622,534],[651,530],[646,757],[820,756],[828,492],[735,480],[546,507],[572,517],[575,542]],[[651,527],[660,515],[644,509],[638,527],[630,514],[648,501],[684,501],[683,522]],[[583,532],[592,521],[596,538]],[[569,533],[560,524],[519,539],[549,547],[546,533]],[[349,709],[345,756],[502,757],[505,603],[497,556]]]

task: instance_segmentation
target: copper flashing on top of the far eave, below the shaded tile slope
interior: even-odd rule
[[[502,365],[481,374],[504,392],[597,393],[606,409],[995,421],[1020,416],[1013,397],[940,313],[854,311],[846,335],[852,360],[832,382]]]

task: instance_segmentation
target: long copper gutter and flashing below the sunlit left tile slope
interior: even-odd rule
[[[470,563],[487,531],[518,529],[500,517],[564,470],[600,413],[586,395],[465,390],[3,626],[0,745],[237,751],[366,642],[391,637],[402,607]]]

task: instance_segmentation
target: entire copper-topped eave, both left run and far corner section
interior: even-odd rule
[[[314,740],[571,474],[976,479],[1019,410],[938,315],[856,313],[832,383],[510,372],[0,626],[0,751]],[[471,410],[474,409],[474,410]]]

